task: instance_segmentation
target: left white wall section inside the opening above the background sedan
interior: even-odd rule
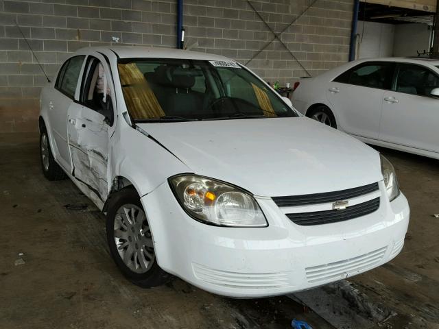
[[[357,58],[394,56],[395,25],[358,21]]]

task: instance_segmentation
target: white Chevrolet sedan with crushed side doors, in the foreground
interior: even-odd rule
[[[40,104],[44,175],[67,175],[106,213],[111,255],[141,287],[171,273],[221,295],[281,295],[403,247],[392,164],[228,58],[81,49]]]

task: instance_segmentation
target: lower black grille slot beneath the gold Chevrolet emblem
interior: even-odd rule
[[[298,214],[287,214],[287,217],[294,223],[303,226],[321,225],[347,221],[357,217],[368,215],[379,208],[379,197],[362,204],[347,207],[344,210],[324,210],[315,212],[300,212]]]

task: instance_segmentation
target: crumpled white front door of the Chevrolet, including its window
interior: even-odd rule
[[[99,206],[108,194],[108,141],[114,121],[109,66],[102,56],[88,56],[80,100],[69,108],[67,132],[72,175]]]

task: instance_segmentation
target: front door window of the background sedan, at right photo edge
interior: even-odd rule
[[[420,96],[431,96],[431,90],[439,87],[438,76],[419,65],[399,66],[395,91]]]

